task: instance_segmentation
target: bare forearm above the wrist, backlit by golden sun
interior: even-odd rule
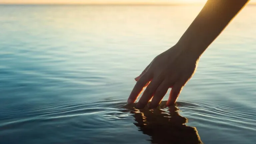
[[[249,0],[208,0],[177,45],[200,56]]]

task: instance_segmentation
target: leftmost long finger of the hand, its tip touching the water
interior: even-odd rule
[[[134,103],[136,101],[136,99],[138,98],[140,93],[143,91],[143,88],[145,86],[147,86],[149,81],[150,81],[150,79],[149,79],[148,75],[146,75],[146,73],[141,76],[139,81],[137,81],[137,83],[135,84],[135,86],[132,89],[132,92],[127,100],[128,104]]]

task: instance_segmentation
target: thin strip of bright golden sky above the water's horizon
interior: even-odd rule
[[[205,3],[207,0],[0,0],[7,4],[175,4],[175,3]],[[250,3],[256,3],[251,0]]]

